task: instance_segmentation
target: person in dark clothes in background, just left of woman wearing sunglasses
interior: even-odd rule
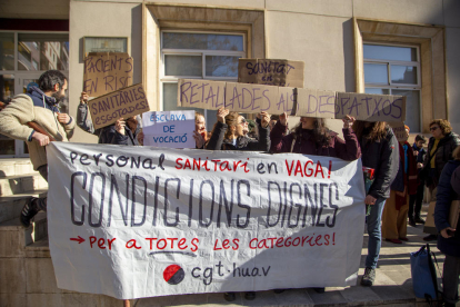
[[[416,227],[416,222],[424,224],[424,220],[421,218],[421,207],[423,201],[424,195],[424,181],[423,178],[420,176],[420,170],[423,167],[424,156],[427,155],[427,150],[424,150],[423,145],[427,142],[427,138],[423,135],[417,135],[416,141],[412,145],[413,155],[416,155],[417,159],[417,171],[419,176],[419,184],[417,186],[417,194],[409,195],[409,225]],[[413,208],[416,205],[416,208]]]

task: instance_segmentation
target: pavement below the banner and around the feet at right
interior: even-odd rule
[[[426,218],[428,204],[423,205],[422,217]],[[377,268],[376,283],[372,287],[360,285],[346,288],[326,288],[323,294],[313,289],[290,289],[282,294],[272,290],[258,291],[254,300],[244,299],[244,294],[237,294],[237,300],[228,303],[222,294],[177,295],[137,299],[131,307],[156,306],[397,306],[421,307],[430,306],[424,299],[416,298],[412,290],[410,273],[410,258],[412,251],[417,251],[426,242],[423,225],[411,227],[408,225],[409,241],[401,245],[382,241],[380,258]],[[361,252],[359,281],[364,273],[364,260],[368,254],[368,235]],[[439,275],[442,274],[444,256],[436,248],[436,241],[430,242],[431,250],[436,254],[439,265]],[[358,283],[359,284],[359,283]],[[432,305],[437,306],[437,305]],[[460,303],[457,304],[460,307]]]

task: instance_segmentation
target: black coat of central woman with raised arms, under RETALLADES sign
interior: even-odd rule
[[[270,138],[269,126],[262,128],[259,126],[259,140],[249,138],[247,136],[238,137],[237,146],[224,140],[224,136],[229,126],[220,121],[217,122],[214,130],[212,131],[211,139],[206,146],[210,150],[248,150],[248,151],[269,151]]]

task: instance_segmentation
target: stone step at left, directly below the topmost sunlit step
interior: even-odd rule
[[[47,192],[47,189],[40,189],[0,197],[0,222],[17,219],[29,197],[42,197]]]

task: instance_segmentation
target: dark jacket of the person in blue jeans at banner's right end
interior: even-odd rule
[[[374,169],[374,180],[369,195],[374,198],[390,198],[390,186],[399,170],[399,145],[391,128],[379,141],[360,140],[362,166]]]

